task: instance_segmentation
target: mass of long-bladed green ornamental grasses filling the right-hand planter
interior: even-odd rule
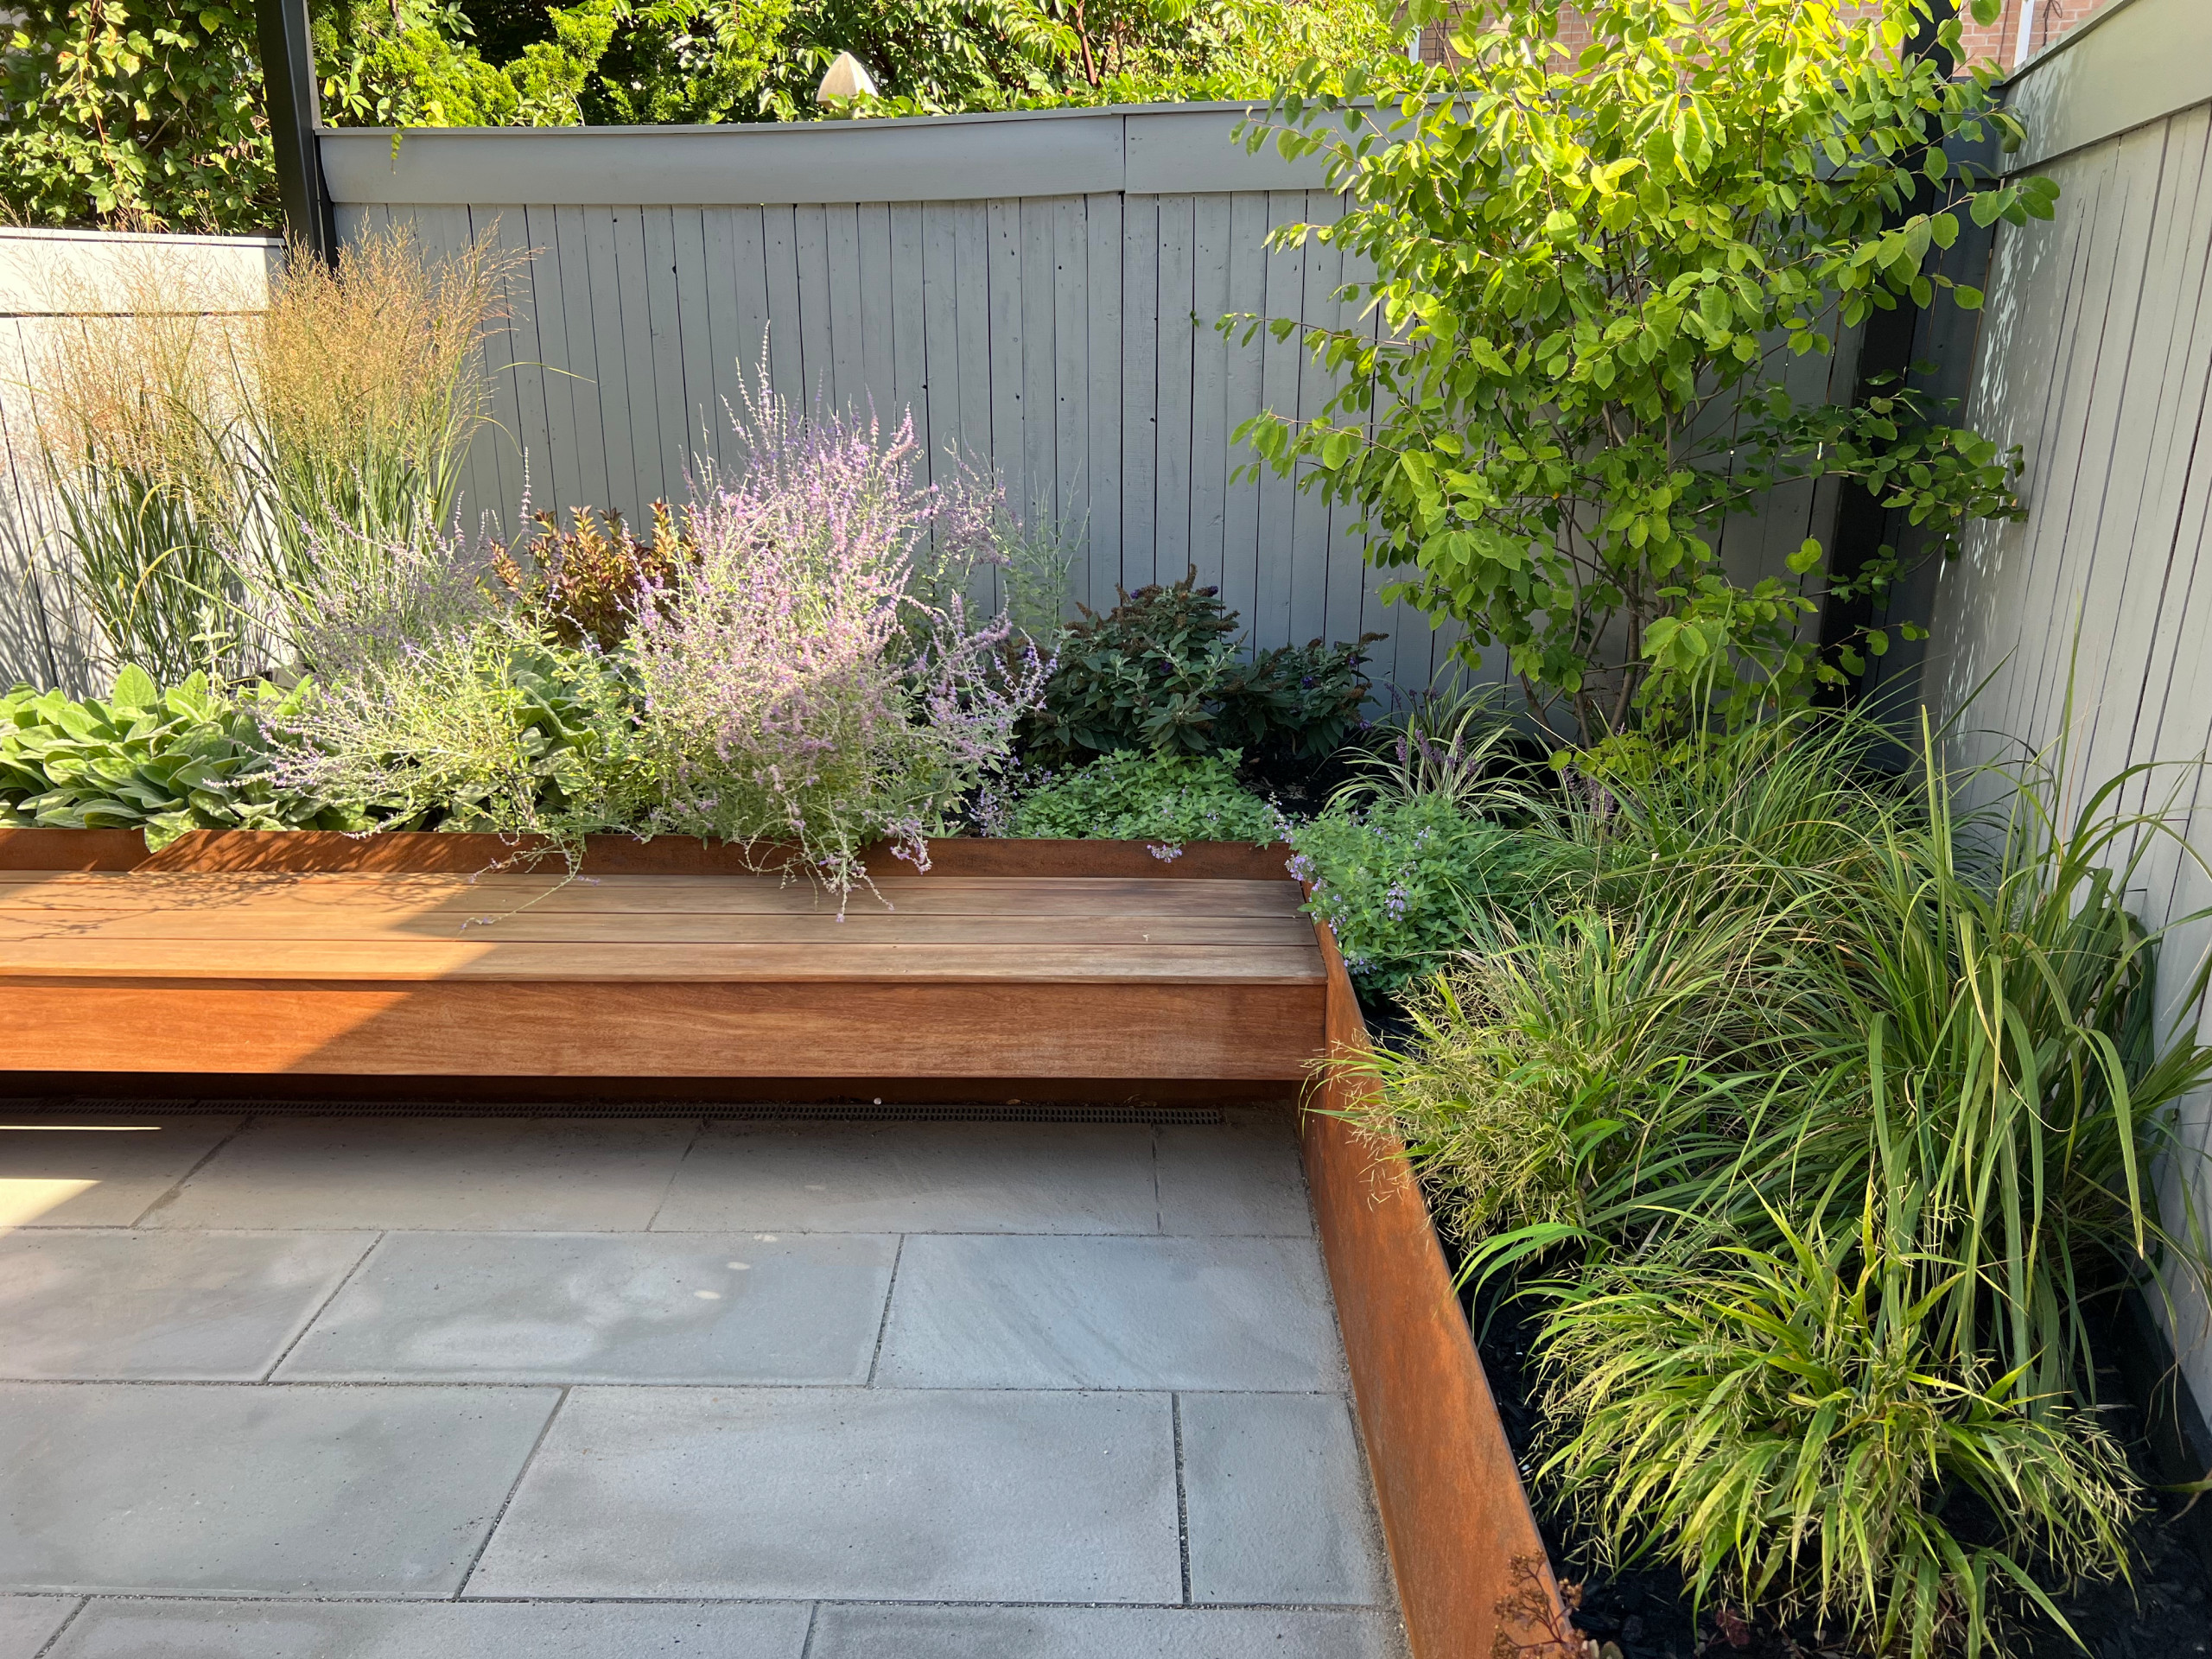
[[[1467,1272],[1540,1310],[1546,1478],[1606,1551],[1931,1659],[2128,1571],[2095,1332],[2212,1285],[2146,1194],[2201,1168],[2174,1115],[2212,1046],[2205,962],[2161,1015],[2126,907],[2194,858],[2124,805],[2143,768],[1885,752],[1801,712],[1573,757],[1522,827],[1555,914],[1493,907],[1413,995],[1376,1115]]]

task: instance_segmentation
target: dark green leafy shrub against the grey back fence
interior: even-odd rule
[[[1044,706],[1024,728],[1031,754],[1064,763],[1110,750],[1329,754],[1358,723],[1367,646],[1279,646],[1237,655],[1237,613],[1197,566],[1170,586],[1124,593],[1104,617],[1084,608],[1060,639]]]

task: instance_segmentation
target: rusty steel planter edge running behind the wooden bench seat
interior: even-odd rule
[[[1155,849],[1157,847],[1157,849]],[[865,856],[869,876],[1139,876],[1186,880],[1290,880],[1290,847],[1250,841],[929,841],[920,872],[889,847]],[[394,830],[347,836],[334,830],[190,830],[146,852],[137,830],[0,827],[0,869],[239,872],[239,874],[453,874],[562,869],[562,852],[538,838]],[[697,836],[588,836],[582,872],[593,876],[741,876],[759,869],[743,847]]]

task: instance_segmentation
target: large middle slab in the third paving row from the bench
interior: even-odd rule
[[[1168,1400],[577,1389],[469,1595],[1175,1601]]]

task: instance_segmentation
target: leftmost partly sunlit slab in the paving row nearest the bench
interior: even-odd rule
[[[0,1228],[128,1228],[237,1126],[0,1104]]]

